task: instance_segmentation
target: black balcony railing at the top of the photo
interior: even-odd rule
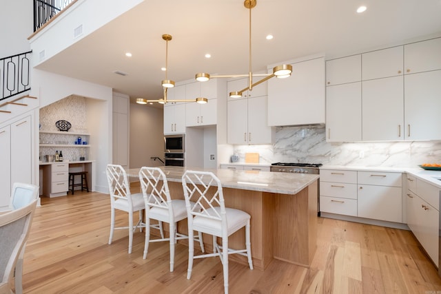
[[[75,0],[34,0],[34,32]]]

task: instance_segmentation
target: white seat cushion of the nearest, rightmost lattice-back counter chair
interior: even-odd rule
[[[220,214],[220,207],[214,207]],[[238,231],[247,224],[247,221],[251,218],[248,213],[238,209],[225,208],[227,213],[227,233],[231,235],[232,233]],[[207,209],[211,215],[214,214],[213,209]],[[195,231],[201,231],[203,233],[209,233],[211,235],[216,235],[222,237],[221,221],[213,220],[211,218],[205,218],[203,216],[195,216],[193,218],[193,229]]]

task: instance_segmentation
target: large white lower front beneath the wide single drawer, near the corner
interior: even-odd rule
[[[358,185],[358,217],[388,222],[402,220],[401,187]]]

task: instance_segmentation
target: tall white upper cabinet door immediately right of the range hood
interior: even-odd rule
[[[326,87],[326,140],[361,140],[361,82]]]

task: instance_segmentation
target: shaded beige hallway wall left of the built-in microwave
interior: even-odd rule
[[[130,168],[160,167],[164,160],[163,109],[130,103]]]

